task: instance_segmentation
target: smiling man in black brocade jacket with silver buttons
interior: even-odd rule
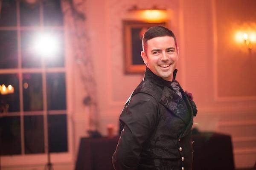
[[[192,170],[192,95],[175,80],[179,48],[169,29],[143,35],[143,81],[120,115],[124,129],[112,162],[115,170]]]

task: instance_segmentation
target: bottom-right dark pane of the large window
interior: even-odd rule
[[[49,152],[67,152],[67,115],[48,115]]]

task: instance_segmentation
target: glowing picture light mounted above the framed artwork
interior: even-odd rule
[[[169,16],[167,14],[168,10],[157,8],[157,6],[153,6],[151,9],[139,9],[137,6],[133,6],[128,11],[131,17],[148,23],[162,23],[168,20],[167,18]]]

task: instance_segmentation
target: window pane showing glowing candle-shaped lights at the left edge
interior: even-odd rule
[[[17,74],[0,74],[0,85],[0,113],[20,111],[19,80]]]

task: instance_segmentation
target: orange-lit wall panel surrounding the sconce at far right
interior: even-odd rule
[[[237,44],[236,31],[256,23],[255,0],[225,0],[216,3],[218,96],[256,96],[256,51]],[[254,28],[256,29],[256,28]],[[225,81],[223,81],[225,80]]]

